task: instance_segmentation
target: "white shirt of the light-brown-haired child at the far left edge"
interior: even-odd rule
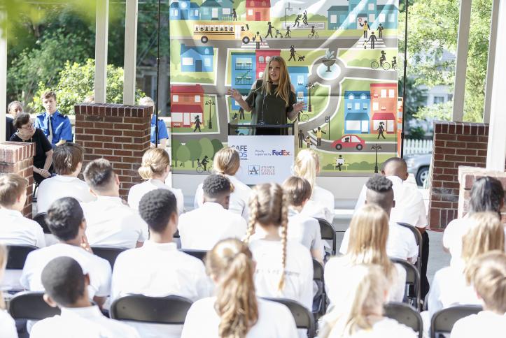
[[[6,245],[45,247],[44,232],[36,221],[17,210],[0,209],[0,242]]]

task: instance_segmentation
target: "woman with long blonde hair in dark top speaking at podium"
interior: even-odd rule
[[[229,89],[241,108],[251,112],[251,124],[286,124],[293,120],[304,102],[297,102],[295,89],[290,83],[286,62],[282,57],[274,56],[267,62],[266,71],[261,80],[253,83],[251,91],[244,100],[237,89]],[[255,135],[285,135],[286,128],[256,128]]]

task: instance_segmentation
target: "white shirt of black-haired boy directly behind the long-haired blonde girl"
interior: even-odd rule
[[[339,252],[346,254],[349,246],[350,229],[346,229]],[[416,262],[419,249],[411,230],[392,221],[388,222],[388,240],[386,254],[391,258],[400,258]]]

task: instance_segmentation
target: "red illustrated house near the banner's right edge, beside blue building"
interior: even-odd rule
[[[371,133],[377,132],[383,122],[386,133],[397,130],[397,83],[372,83],[371,88]]]

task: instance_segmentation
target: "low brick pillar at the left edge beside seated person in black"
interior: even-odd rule
[[[23,215],[31,218],[31,193],[34,184],[35,143],[1,142],[0,143],[0,175],[15,173],[28,179],[27,203]]]

